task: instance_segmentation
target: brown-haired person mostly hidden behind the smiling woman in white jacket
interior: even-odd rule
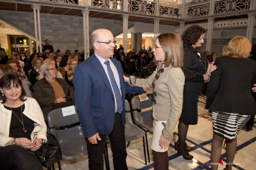
[[[18,77],[18,72],[15,70],[15,68],[13,66],[1,64],[0,65],[0,78],[2,78],[2,76],[4,76],[5,74],[14,74],[15,76]],[[31,91],[29,90],[29,87],[28,87],[26,81],[22,80],[22,79],[20,79],[20,80],[22,82],[22,87],[26,92],[26,96],[32,98]]]

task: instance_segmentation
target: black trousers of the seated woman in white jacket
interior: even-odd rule
[[[43,170],[37,156],[18,145],[0,147],[1,170]]]

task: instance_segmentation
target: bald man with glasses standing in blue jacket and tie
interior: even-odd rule
[[[115,170],[127,170],[124,136],[125,93],[144,90],[124,83],[122,66],[113,59],[113,34],[108,29],[92,32],[94,54],[76,67],[73,82],[75,103],[86,137],[89,169],[103,170],[108,135]]]

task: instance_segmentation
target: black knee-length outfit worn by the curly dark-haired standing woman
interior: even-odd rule
[[[186,125],[196,125],[198,121],[197,103],[198,96],[204,81],[203,74],[206,74],[207,65],[202,61],[199,52],[188,45],[184,48],[184,66],[182,71],[185,75],[183,91],[183,108],[180,121]]]

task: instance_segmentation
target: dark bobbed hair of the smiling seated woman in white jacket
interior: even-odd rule
[[[22,87],[22,82],[21,80],[15,76],[14,74],[4,74],[2,78],[0,79],[0,88],[7,88],[11,86],[20,86],[21,88],[21,95],[20,95],[20,100],[24,102],[26,100],[26,92],[24,88]],[[6,102],[6,96],[2,96],[2,92],[0,92],[0,100],[2,100],[2,103]]]

